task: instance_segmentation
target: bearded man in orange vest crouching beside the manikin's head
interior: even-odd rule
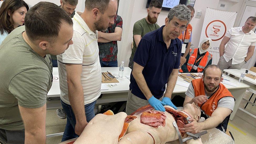
[[[206,120],[197,122],[190,118],[189,124],[184,125],[185,132],[198,133],[214,127],[226,132],[230,114],[234,108],[234,97],[228,89],[220,83],[223,80],[222,71],[217,65],[209,65],[204,69],[201,79],[194,79],[186,91],[184,104],[198,104],[201,117]]]

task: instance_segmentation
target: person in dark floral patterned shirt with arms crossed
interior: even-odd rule
[[[104,32],[98,31],[99,58],[101,67],[118,67],[117,41],[121,41],[123,20],[114,17],[114,24]]]

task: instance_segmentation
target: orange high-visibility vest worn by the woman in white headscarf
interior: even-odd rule
[[[199,49],[199,48],[198,48]],[[198,49],[190,49],[189,51],[189,60],[187,63],[188,71],[190,72],[195,64],[195,61],[197,59],[197,52]],[[208,62],[212,59],[212,54],[210,54],[208,51],[206,51],[205,55],[201,58],[197,72],[204,71],[204,68],[207,66]]]

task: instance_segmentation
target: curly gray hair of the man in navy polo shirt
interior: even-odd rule
[[[179,20],[187,20],[189,24],[191,18],[191,11],[184,4],[179,4],[174,8],[170,9],[168,13],[169,22],[173,19],[174,16],[177,17]]]

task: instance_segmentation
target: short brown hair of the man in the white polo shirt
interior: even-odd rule
[[[86,0],[85,8],[87,10],[92,10],[94,8],[98,8],[102,14],[104,14],[105,10],[108,7],[110,0]]]

